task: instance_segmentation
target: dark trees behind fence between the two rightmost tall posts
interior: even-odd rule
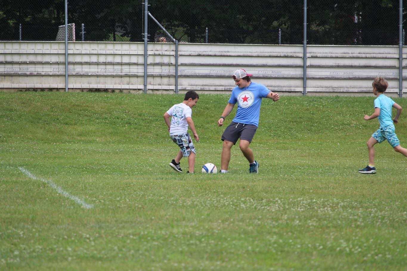
[[[325,0],[309,4],[310,44],[398,43],[398,0]]]

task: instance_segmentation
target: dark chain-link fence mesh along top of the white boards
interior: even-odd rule
[[[70,1],[74,40],[143,41],[143,2]],[[302,44],[303,6],[303,0],[149,0],[148,9],[179,42]],[[398,45],[398,14],[399,0],[309,0],[307,43]],[[55,41],[64,24],[64,0],[0,0],[0,40]],[[151,42],[170,41],[151,18],[148,33]]]

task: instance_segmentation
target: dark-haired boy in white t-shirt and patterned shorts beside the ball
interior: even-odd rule
[[[170,163],[170,167],[178,172],[182,172],[179,160],[181,160],[182,157],[188,157],[188,173],[194,173],[196,152],[191,136],[188,134],[188,126],[191,129],[195,140],[198,142],[199,137],[191,117],[191,108],[197,104],[198,99],[199,95],[195,91],[190,90],[185,93],[184,102],[174,104],[166,113],[164,113],[164,121],[168,126],[170,137],[181,148],[177,156],[175,156],[175,159]]]

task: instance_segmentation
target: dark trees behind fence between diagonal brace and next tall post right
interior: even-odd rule
[[[154,1],[149,9],[181,41],[204,42],[208,28],[210,42],[278,43],[278,30],[282,28],[288,43],[300,43],[302,37],[298,33],[302,35],[302,17],[298,20],[297,16],[302,16],[300,2],[274,0],[248,4],[243,0],[167,0]],[[152,26],[151,30],[155,29]]]

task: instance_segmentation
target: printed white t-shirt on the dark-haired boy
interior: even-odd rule
[[[170,135],[185,134],[188,131],[186,118],[192,116],[192,109],[180,103],[174,104],[167,113],[171,116]]]

